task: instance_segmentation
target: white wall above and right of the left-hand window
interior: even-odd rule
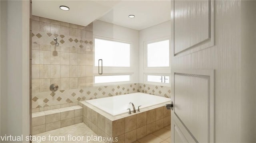
[[[139,31],[122,27],[119,25],[110,24],[108,22],[102,22],[100,20],[96,20],[93,22],[93,35],[100,36],[100,37],[106,37],[111,39],[118,39],[121,41],[129,41],[132,42],[133,46],[133,59],[132,59],[132,67],[134,75],[132,76],[132,82],[138,83],[138,60],[139,60],[139,49],[138,49],[138,43],[139,43]],[[94,70],[94,73],[98,72],[98,69],[96,71]],[[106,71],[106,70],[105,70]],[[108,72],[108,71],[106,71]],[[112,72],[118,72],[118,69]],[[130,71],[127,71],[130,72]]]

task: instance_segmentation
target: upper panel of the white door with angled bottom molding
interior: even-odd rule
[[[173,56],[182,57],[214,46],[214,0],[174,0],[172,4],[173,11],[171,15],[173,24],[171,27],[174,29],[172,32],[174,37],[172,41],[174,42]],[[196,11],[196,9],[199,10]]]

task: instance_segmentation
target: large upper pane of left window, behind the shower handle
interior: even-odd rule
[[[95,66],[102,59],[103,67],[130,67],[131,44],[105,39],[95,39]]]

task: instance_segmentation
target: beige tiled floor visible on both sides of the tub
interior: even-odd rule
[[[68,135],[72,136],[84,136],[83,141],[68,141]],[[134,143],[170,143],[170,126],[160,129],[146,137],[138,139]],[[39,133],[34,135],[34,137],[46,137],[45,141],[41,141],[40,143],[99,143],[99,141],[86,141],[88,137],[97,136],[89,127],[87,127],[84,123],[78,123],[75,125],[70,125],[68,127],[62,127],[60,129],[55,129],[52,131],[46,131],[44,133]],[[49,136],[50,139],[49,140]],[[54,137],[64,136],[65,141],[60,141],[60,139],[54,141]],[[37,141],[32,141],[32,143],[38,143]],[[104,143],[104,142],[100,142]]]

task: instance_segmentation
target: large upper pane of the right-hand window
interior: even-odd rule
[[[169,66],[169,40],[147,44],[147,67]]]

